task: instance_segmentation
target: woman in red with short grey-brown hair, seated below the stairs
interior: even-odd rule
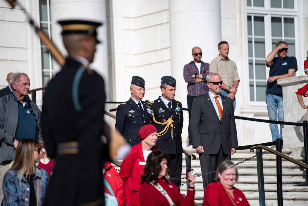
[[[218,182],[205,187],[202,206],[250,206],[243,192],[233,187],[237,179],[238,173],[233,162],[221,162],[214,178]]]

